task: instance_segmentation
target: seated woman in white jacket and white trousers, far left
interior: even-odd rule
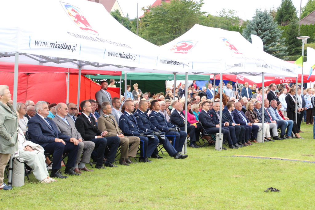
[[[17,115],[20,117],[18,112]],[[24,133],[20,127],[18,130],[18,141],[19,148],[15,151],[14,155],[27,160],[27,165],[32,168],[35,178],[41,183],[46,184],[57,182],[57,180],[48,176],[49,173],[46,168],[43,147],[31,141],[26,141]]]

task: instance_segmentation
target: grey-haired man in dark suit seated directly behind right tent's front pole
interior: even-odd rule
[[[213,109],[210,110],[209,114],[212,115],[213,122],[217,125],[220,125],[220,102],[213,103]],[[230,124],[224,119],[222,119],[222,129],[226,129],[230,131],[232,142],[231,143],[229,142],[229,148],[235,149],[235,148],[240,147],[240,145],[237,144],[235,128],[233,126],[230,126]]]

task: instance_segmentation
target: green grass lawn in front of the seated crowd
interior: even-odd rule
[[[40,184],[31,175],[20,188],[0,190],[0,208],[314,209],[314,163],[232,157],[315,161],[313,127],[303,123],[301,129],[306,139],[256,143],[227,151],[188,148],[184,160],[165,154],[152,163],[96,169],[52,184]],[[268,187],[281,192],[265,193]]]

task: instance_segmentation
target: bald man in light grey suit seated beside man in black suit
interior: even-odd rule
[[[75,105],[75,104],[74,104]],[[79,149],[77,153],[77,159],[75,166],[72,167],[72,170],[76,173],[82,173],[81,171],[94,171],[85,167],[85,164],[90,161],[91,154],[95,147],[95,143],[91,141],[84,141],[77,131],[74,120],[68,115],[68,107],[64,103],[59,103],[56,106],[56,117],[53,118],[54,123],[57,125],[58,130],[67,135],[75,138],[79,141]],[[74,110],[75,111],[75,110]],[[84,149],[82,160],[80,162],[81,154]],[[78,163],[79,166],[78,166]]]

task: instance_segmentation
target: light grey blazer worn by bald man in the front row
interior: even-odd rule
[[[61,133],[67,136],[71,136],[72,138],[75,138],[75,139],[82,138],[79,131],[77,131],[74,121],[68,115],[66,116],[66,119],[69,125],[58,116],[54,117],[52,120],[57,125],[57,128]]]

